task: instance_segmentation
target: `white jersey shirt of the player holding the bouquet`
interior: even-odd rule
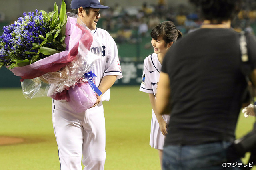
[[[96,62],[96,67],[92,69],[92,73],[94,73],[97,77],[93,77],[93,83],[99,87],[100,81],[102,77],[106,75],[117,75],[116,79],[122,78],[121,65],[118,58],[118,51],[116,42],[110,36],[110,34],[101,28],[96,28],[92,30],[92,34],[96,36],[98,42],[100,43],[100,48],[102,48],[102,58]],[[97,50],[98,47],[90,48],[93,52]],[[102,95],[102,101],[109,100],[110,98],[110,90],[108,89]]]

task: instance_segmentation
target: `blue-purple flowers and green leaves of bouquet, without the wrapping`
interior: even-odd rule
[[[34,63],[50,54],[66,50],[64,29],[67,15],[66,4],[62,0],[61,13],[58,6],[47,14],[45,11],[24,13],[10,26],[4,26],[0,36],[0,68],[10,65],[10,69]],[[55,13],[56,12],[56,13]],[[42,48],[43,47],[43,48]],[[25,61],[24,61],[25,60]]]

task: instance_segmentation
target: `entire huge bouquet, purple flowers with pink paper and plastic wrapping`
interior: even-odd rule
[[[36,10],[23,15],[3,28],[0,67],[22,78],[26,98],[66,100],[77,112],[92,107],[101,93],[91,81],[92,67],[102,56],[102,51],[90,51],[96,38],[76,14],[67,16],[64,0],[60,14],[55,3],[48,14]]]

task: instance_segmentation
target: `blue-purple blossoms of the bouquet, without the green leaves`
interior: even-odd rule
[[[36,10],[36,13],[28,12],[23,15],[24,17],[18,18],[14,24],[3,27],[4,33],[0,36],[0,63],[2,65],[8,65],[13,57],[19,60],[31,59],[31,55],[25,52],[37,53],[37,49],[31,50],[32,44],[43,42],[38,38],[39,35],[46,36],[50,22],[44,19],[41,12]]]

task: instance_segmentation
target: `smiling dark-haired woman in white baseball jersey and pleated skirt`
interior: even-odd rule
[[[167,50],[172,44],[182,36],[182,33],[176,29],[173,22],[165,21],[158,24],[151,31],[151,43],[154,47],[154,53],[144,60],[144,69],[140,91],[148,93],[152,106],[152,119],[150,131],[150,146],[158,149],[160,164],[162,169],[162,154],[164,148],[164,135],[167,134],[166,128],[169,115],[159,115],[156,111],[155,102],[157,94],[157,85],[159,81],[162,61]]]

